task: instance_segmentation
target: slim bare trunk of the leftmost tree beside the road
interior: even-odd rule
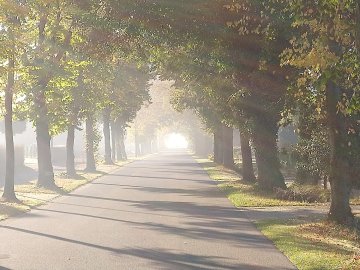
[[[9,38],[14,42],[12,30],[9,29]],[[14,50],[15,48],[13,48]],[[6,172],[3,199],[6,201],[18,201],[14,191],[15,149],[13,133],[13,90],[15,84],[15,55],[14,51],[9,57],[8,78],[5,89],[5,144],[6,144]]]

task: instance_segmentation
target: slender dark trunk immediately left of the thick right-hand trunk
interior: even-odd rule
[[[242,176],[247,182],[255,182],[254,166],[250,146],[250,136],[247,131],[240,129],[240,147],[242,160]]]

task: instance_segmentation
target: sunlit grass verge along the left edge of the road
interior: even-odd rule
[[[130,162],[132,160],[118,162],[114,165],[100,164],[98,170],[94,173],[78,171],[76,178],[68,178],[64,173],[59,173],[55,175],[55,184],[59,187],[58,191],[38,187],[35,180],[26,184],[15,185],[16,196],[22,203],[0,202],[0,220],[28,212],[32,208],[46,204],[56,197],[70,193]]]

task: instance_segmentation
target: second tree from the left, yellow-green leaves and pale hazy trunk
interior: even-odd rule
[[[62,70],[66,48],[72,38],[72,16],[67,2],[31,2],[28,5],[30,15],[28,21],[29,46],[23,56],[28,74],[22,77],[29,92],[25,93],[29,102],[28,117],[36,127],[38,147],[38,185],[54,188],[54,172],[50,150],[50,128],[53,119],[49,105],[55,90],[56,79]],[[55,103],[52,103],[55,104]]]

